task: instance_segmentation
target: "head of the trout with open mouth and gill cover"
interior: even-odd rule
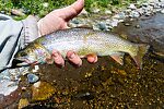
[[[17,60],[17,66],[23,66],[45,63],[47,57],[50,57],[49,51],[47,51],[42,45],[34,43],[19,51],[14,59]]]

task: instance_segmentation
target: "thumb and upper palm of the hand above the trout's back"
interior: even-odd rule
[[[44,36],[57,29],[68,28],[68,21],[77,16],[82,11],[83,7],[84,0],[78,0],[69,7],[51,11],[38,21],[37,26],[39,35]]]

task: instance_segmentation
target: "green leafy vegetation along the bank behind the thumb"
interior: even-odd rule
[[[11,9],[22,9],[25,14],[45,15],[49,11],[66,7],[75,0],[0,0],[0,11],[10,14]],[[85,9],[90,11],[92,7],[108,8],[109,5],[121,7],[137,0],[85,0]],[[48,3],[48,7],[44,7]]]

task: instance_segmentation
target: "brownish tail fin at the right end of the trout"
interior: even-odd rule
[[[147,53],[149,48],[150,48],[150,46],[147,44],[138,45],[137,56],[133,56],[132,58],[139,69],[142,69],[142,58]]]

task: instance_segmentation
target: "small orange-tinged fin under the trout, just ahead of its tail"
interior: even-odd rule
[[[114,53],[114,55],[110,55],[110,57],[116,61],[116,62],[118,62],[119,64],[124,64],[124,55],[125,53],[120,53],[120,52],[118,52],[118,53]]]

